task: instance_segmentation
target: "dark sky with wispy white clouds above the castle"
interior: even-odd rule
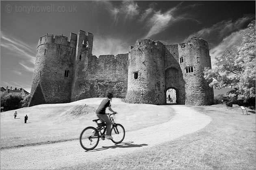
[[[37,43],[45,34],[93,34],[93,55],[128,53],[137,39],[208,41],[215,57],[255,19],[255,1],[0,1],[0,87],[30,92]],[[214,89],[225,94],[226,89]]]

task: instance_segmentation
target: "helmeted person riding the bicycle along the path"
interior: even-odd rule
[[[107,93],[106,94],[106,99],[102,100],[100,103],[100,106],[97,108],[96,115],[100,119],[102,123],[106,122],[106,138],[107,139],[113,139],[111,136],[111,120],[108,118],[108,115],[106,115],[106,108],[108,107],[108,110],[116,113],[114,110],[111,108],[111,100],[113,98],[112,93]]]

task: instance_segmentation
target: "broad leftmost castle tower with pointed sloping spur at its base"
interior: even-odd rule
[[[39,38],[29,106],[70,102],[76,34]]]

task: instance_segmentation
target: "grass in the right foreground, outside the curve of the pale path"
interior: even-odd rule
[[[225,105],[191,107],[213,121],[198,132],[156,147],[63,169],[256,168],[255,111],[241,115],[241,110]]]

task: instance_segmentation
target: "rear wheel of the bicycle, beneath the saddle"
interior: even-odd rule
[[[80,144],[83,149],[89,151],[97,147],[100,136],[95,127],[86,127],[80,134]]]

